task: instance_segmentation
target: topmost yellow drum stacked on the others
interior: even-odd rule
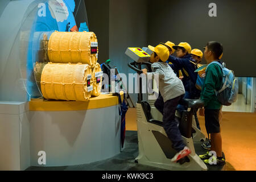
[[[98,42],[93,32],[58,32],[49,38],[48,57],[52,63],[82,63],[94,67]]]

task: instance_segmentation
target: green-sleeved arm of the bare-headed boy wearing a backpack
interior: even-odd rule
[[[218,65],[212,64],[207,68],[207,74],[205,76],[204,90],[201,92],[201,100],[204,101],[204,106],[207,106],[209,101],[216,95],[214,90],[217,90],[216,84],[219,80],[219,69]]]

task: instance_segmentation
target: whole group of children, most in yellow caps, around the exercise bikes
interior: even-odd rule
[[[172,42],[160,43],[156,47],[148,46],[153,52],[150,57],[152,73],[159,75],[159,97],[155,101],[155,107],[163,114],[163,127],[168,138],[172,141],[172,147],[177,151],[172,162],[191,153],[184,144],[179,130],[179,123],[175,119],[175,111],[182,113],[187,108],[179,105],[181,98],[201,98],[204,101],[205,127],[210,134],[210,150],[216,151],[217,156],[210,156],[209,152],[199,157],[206,164],[223,165],[225,159],[222,156],[222,140],[220,133],[219,115],[221,104],[217,100],[214,90],[220,90],[222,72],[216,64],[210,64],[205,73],[205,81],[201,90],[196,88],[196,69],[203,58],[207,64],[212,61],[220,61],[223,47],[218,42],[208,42],[204,47],[204,54],[200,49],[191,50],[186,42],[175,45]],[[176,56],[174,56],[176,52]],[[147,74],[147,69],[142,69]],[[195,115],[197,127],[198,119]]]

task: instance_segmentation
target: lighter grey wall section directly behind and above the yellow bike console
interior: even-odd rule
[[[129,73],[135,72],[127,66],[131,61],[125,55],[127,47],[147,46],[147,0],[109,2],[109,57],[128,78]],[[130,96],[135,103],[137,94]]]

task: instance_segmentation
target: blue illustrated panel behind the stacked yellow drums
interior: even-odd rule
[[[33,10],[34,23],[30,31],[27,52],[27,98],[41,97],[40,82],[35,76],[35,64],[46,62],[47,40],[53,31],[89,31],[83,1],[48,0],[39,1]],[[79,27],[77,27],[77,23]]]

